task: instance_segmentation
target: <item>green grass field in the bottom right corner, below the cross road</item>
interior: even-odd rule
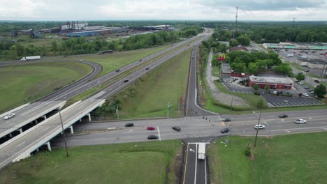
[[[326,183],[327,133],[258,137],[254,159],[245,156],[255,137],[218,139],[208,148],[211,183]]]

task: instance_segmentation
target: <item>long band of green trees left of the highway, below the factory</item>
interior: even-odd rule
[[[75,54],[95,54],[100,50],[111,49],[114,51],[144,49],[167,43],[175,43],[181,38],[189,38],[201,33],[201,26],[187,26],[180,31],[159,31],[157,33],[148,33],[136,36],[130,36],[126,39],[111,40],[109,42],[104,38],[92,37],[92,40],[85,37],[68,38],[61,44],[57,40],[51,42],[50,47],[34,45],[21,45],[19,42],[14,43],[11,40],[0,40],[0,59],[18,59],[22,56],[50,56],[50,55],[75,55]],[[222,48],[222,47],[221,47]],[[222,48],[224,49],[224,48]]]

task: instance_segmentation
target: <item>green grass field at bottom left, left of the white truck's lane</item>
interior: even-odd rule
[[[54,149],[0,171],[0,183],[178,183],[181,142],[149,141],[129,144]]]

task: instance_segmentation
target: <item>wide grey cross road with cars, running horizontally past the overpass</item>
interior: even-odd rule
[[[278,118],[280,112],[261,114],[261,124],[266,128],[259,131],[259,135],[282,135],[300,132],[325,132],[327,130],[327,109],[284,112],[288,118]],[[222,122],[221,118],[231,118],[231,122]],[[207,118],[207,120],[205,120]],[[147,135],[159,135],[161,140],[187,139],[193,137],[215,137],[221,134],[220,130],[231,125],[233,135],[255,135],[254,125],[258,123],[259,112],[253,114],[224,115],[224,116],[191,116],[185,118],[163,118],[134,121],[113,121],[103,123],[76,123],[76,135],[67,138],[68,146],[113,144],[123,142],[147,141]],[[304,125],[294,123],[297,118],[307,120]],[[210,120],[210,121],[209,121]],[[125,123],[134,123],[133,128],[125,128]],[[268,123],[265,124],[265,123]],[[172,126],[179,125],[180,132],[172,130]],[[147,126],[159,128],[157,131],[146,130]],[[270,132],[269,132],[270,126]],[[95,131],[96,130],[96,131]],[[78,132],[83,132],[78,134]],[[99,133],[101,132],[101,133]],[[53,139],[54,145],[63,146],[61,136]]]

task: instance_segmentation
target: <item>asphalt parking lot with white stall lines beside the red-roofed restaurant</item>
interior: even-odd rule
[[[286,97],[269,95],[267,93],[261,94],[265,98],[268,107],[293,107],[304,105],[322,105],[323,103],[311,97]]]

